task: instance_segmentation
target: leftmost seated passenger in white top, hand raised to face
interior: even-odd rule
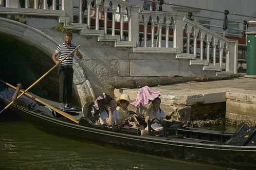
[[[115,121],[117,121],[118,125],[121,125],[121,120],[119,118],[119,113],[116,110],[116,102],[114,99],[110,99],[108,104],[105,105],[106,109],[100,113],[100,124],[112,126]]]

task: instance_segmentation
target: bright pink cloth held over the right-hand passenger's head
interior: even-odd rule
[[[148,102],[153,101],[155,98],[161,95],[163,94],[160,91],[154,91],[146,85],[139,89],[136,101],[130,104],[135,107],[140,106],[140,104],[144,106],[148,104]]]

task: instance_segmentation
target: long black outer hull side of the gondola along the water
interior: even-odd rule
[[[217,163],[230,167],[256,167],[256,147],[198,143],[197,140],[170,139],[155,136],[135,136],[81,126],[47,117],[17,104],[11,109],[36,127],[52,133],[91,141],[136,153],[146,153],[199,162]]]

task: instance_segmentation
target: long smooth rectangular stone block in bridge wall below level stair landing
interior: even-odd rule
[[[178,60],[131,60],[130,76],[174,76]]]

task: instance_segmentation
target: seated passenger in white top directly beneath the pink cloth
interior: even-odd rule
[[[146,109],[146,118],[145,121],[146,123],[148,122],[148,120],[152,120],[157,118],[158,122],[155,122],[153,124],[151,124],[151,127],[155,130],[155,131],[161,131],[163,130],[163,120],[164,120],[164,116],[165,113],[164,111],[160,108],[160,104],[161,104],[161,99],[159,97],[157,97],[156,99],[154,99],[152,101],[152,107],[149,109]],[[145,130],[143,130],[142,135],[148,135],[148,127],[145,128]]]

